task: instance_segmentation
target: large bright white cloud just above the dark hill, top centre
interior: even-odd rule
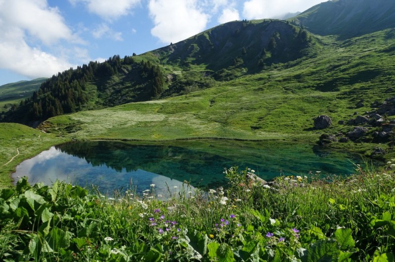
[[[151,33],[163,43],[178,42],[200,33],[209,20],[197,0],[150,0],[149,10],[155,24]]]

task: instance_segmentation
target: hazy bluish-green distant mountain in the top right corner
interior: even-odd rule
[[[293,19],[308,31],[347,39],[395,27],[394,0],[332,0],[322,2]]]

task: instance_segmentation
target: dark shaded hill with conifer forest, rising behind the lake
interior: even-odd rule
[[[230,22],[140,56],[59,73],[0,120],[34,126],[65,113],[186,94],[313,57],[320,48],[315,36],[289,22]]]

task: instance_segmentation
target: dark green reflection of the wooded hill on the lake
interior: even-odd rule
[[[205,185],[218,183],[223,180],[223,168],[234,164],[232,160],[214,154],[174,146],[95,141],[67,143],[56,148],[85,159],[93,166],[106,165],[118,172],[141,169],[179,181],[191,181],[195,186],[198,186],[202,178],[202,184]]]

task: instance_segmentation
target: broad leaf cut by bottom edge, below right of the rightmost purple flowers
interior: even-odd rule
[[[340,250],[337,243],[332,240],[318,240],[312,244],[307,251],[308,262],[330,262],[337,261]]]

